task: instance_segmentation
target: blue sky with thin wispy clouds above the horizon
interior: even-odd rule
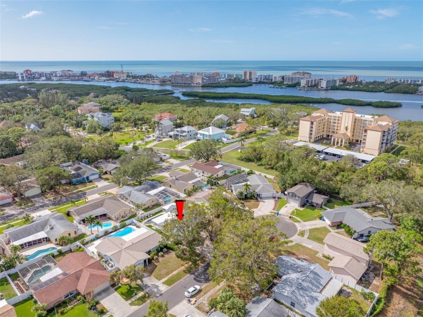
[[[1,1],[1,60],[423,60],[423,1]]]

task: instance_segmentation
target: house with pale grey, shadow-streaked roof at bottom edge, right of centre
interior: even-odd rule
[[[316,317],[320,302],[337,295],[342,288],[342,283],[320,265],[289,256],[277,257],[276,271],[281,278],[272,297],[306,317]]]

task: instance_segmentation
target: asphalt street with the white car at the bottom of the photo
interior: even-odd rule
[[[194,285],[199,285],[202,287],[203,285],[210,282],[207,275],[207,270],[209,267],[210,266],[208,263],[203,265],[194,273],[175,283],[162,294],[154,298],[154,300],[162,302],[167,301],[168,308],[169,310],[171,310],[181,301],[186,300],[184,293],[188,288]],[[130,314],[126,315],[125,317],[142,317],[147,313],[148,307],[149,303],[147,302],[144,305],[140,306],[138,309],[131,312]]]

